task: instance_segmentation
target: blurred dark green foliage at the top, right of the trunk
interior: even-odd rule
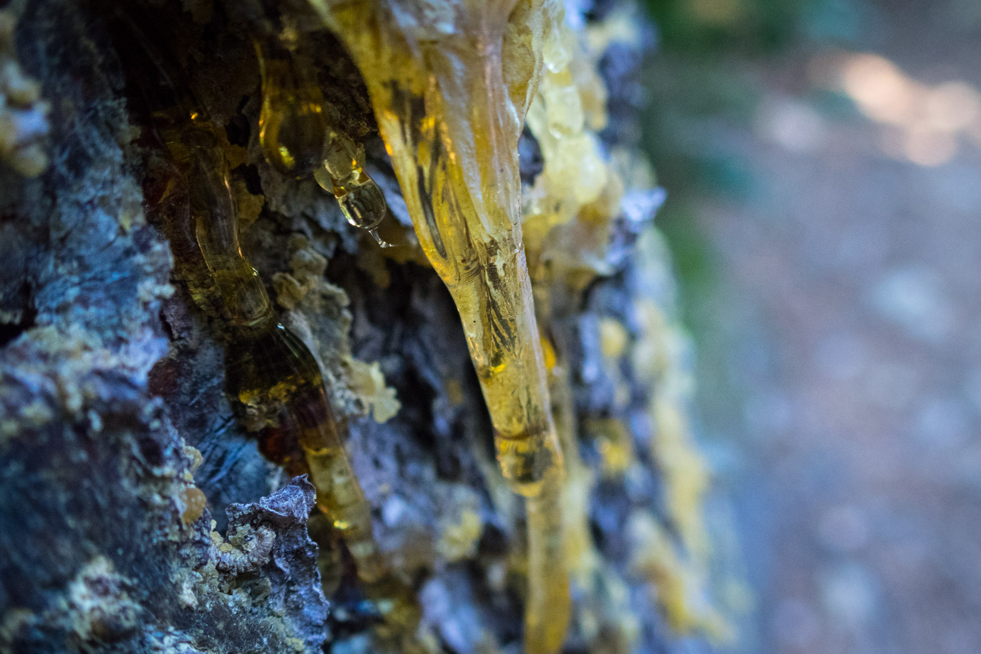
[[[727,145],[749,128],[763,94],[759,72],[789,53],[848,47],[872,22],[865,0],[645,0],[660,36],[645,65],[643,145],[668,200],[658,216],[675,257],[685,319],[712,283],[715,253],[697,225],[697,202],[746,200],[756,183]]]

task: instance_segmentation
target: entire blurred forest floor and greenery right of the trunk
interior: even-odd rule
[[[739,651],[981,652],[981,2],[647,7]]]

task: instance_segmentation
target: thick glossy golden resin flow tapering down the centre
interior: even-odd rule
[[[501,472],[528,498],[525,651],[569,620],[562,454],[521,236],[518,137],[542,66],[542,0],[313,0],[364,76],[416,235],[449,289]]]

